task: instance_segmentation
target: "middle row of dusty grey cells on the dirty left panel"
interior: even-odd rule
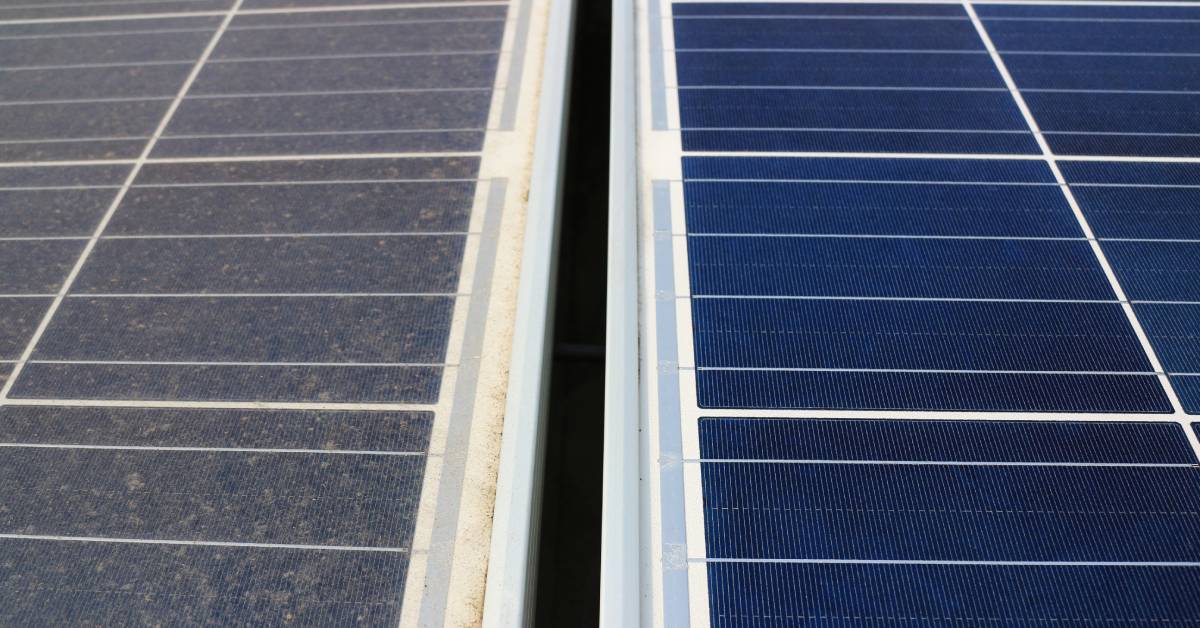
[[[12,396],[433,402],[476,171],[476,159],[146,166]],[[4,171],[26,189],[0,191],[14,208],[0,226],[52,239],[0,241],[13,270],[0,277],[0,359],[22,355],[126,172]]]

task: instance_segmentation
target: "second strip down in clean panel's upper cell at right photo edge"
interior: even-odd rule
[[[1200,53],[1200,23],[985,19],[988,35],[1002,54],[1022,52],[1073,53]]]

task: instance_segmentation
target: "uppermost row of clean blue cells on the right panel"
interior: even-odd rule
[[[1200,10],[978,5],[1062,155],[1194,155]],[[1038,154],[959,5],[674,5],[685,150]]]

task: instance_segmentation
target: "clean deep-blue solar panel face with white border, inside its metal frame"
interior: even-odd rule
[[[1200,5],[636,4],[643,622],[1196,621]]]

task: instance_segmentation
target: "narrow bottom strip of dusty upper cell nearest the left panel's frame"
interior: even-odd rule
[[[476,151],[484,131],[353,131],[166,137],[155,157]]]

